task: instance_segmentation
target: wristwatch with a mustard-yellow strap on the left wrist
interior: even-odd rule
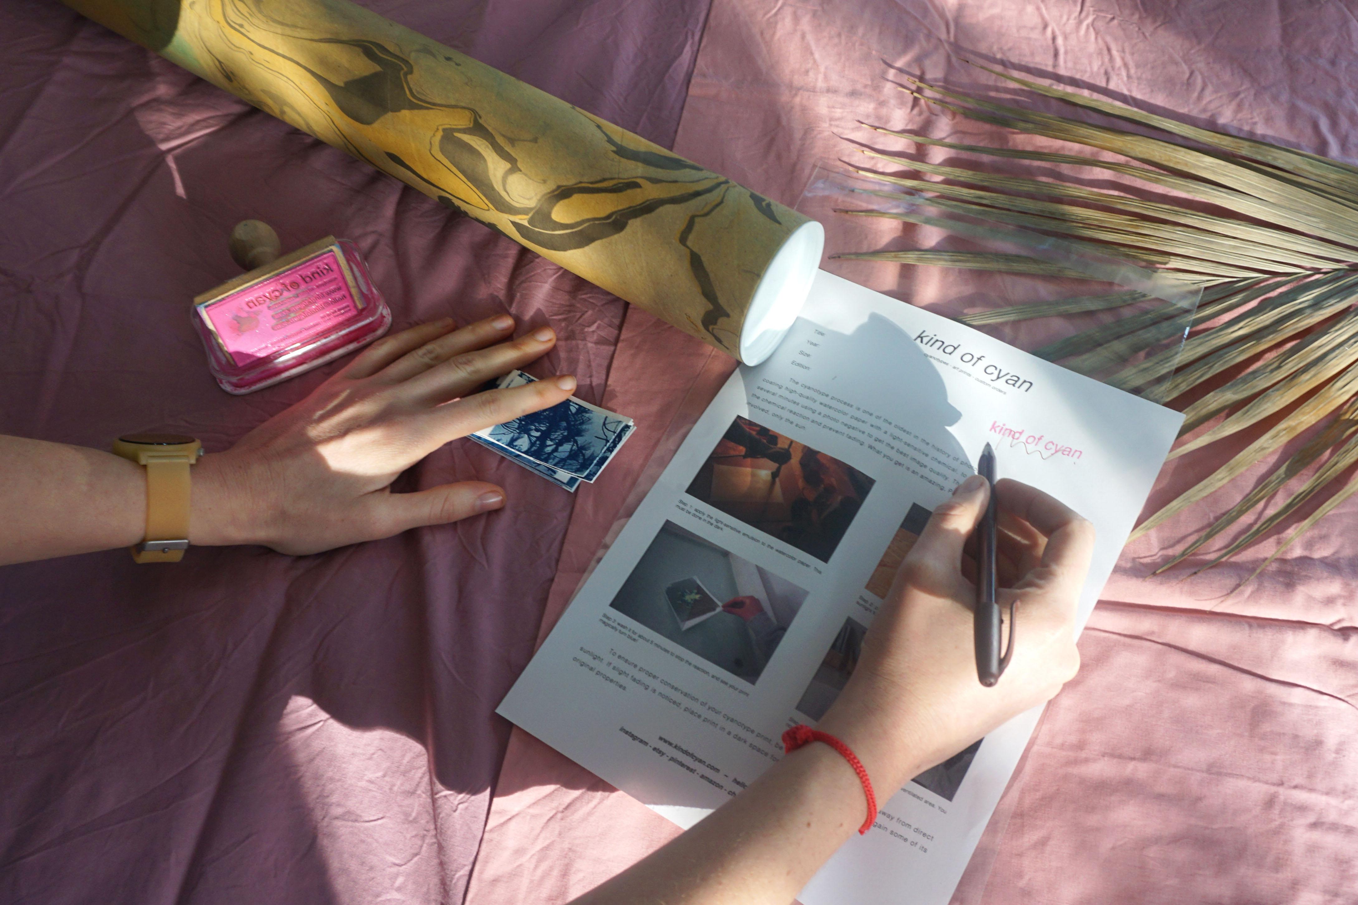
[[[182,434],[128,434],[114,455],[147,467],[147,539],[132,547],[139,563],[177,563],[189,550],[189,467],[202,445]]]

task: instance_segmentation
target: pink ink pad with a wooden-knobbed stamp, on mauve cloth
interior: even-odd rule
[[[319,368],[391,326],[391,309],[352,242],[326,236],[282,258],[277,250],[273,229],[242,223],[231,252],[254,269],[193,300],[208,368],[230,393]]]

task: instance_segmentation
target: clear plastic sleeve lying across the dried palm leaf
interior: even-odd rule
[[[1138,395],[1154,398],[1173,376],[1203,301],[1200,282],[1099,243],[1005,225],[826,167],[797,209],[827,224],[824,270]],[[869,247],[842,244],[854,240]]]

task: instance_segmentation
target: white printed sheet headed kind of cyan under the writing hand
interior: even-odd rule
[[[883,588],[884,551],[909,547],[903,522],[947,499],[987,441],[999,476],[1095,524],[1084,625],[1180,422],[818,273],[786,339],[722,387],[498,712],[689,826],[824,711],[881,605],[866,586]],[[709,596],[743,600],[750,620],[712,613]],[[945,905],[1039,712],[891,795],[800,900]]]

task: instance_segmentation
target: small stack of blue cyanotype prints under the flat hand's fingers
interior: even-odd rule
[[[496,385],[508,389],[534,380],[512,370]],[[572,396],[551,408],[478,430],[470,438],[574,493],[581,480],[592,483],[599,476],[633,427],[631,418]]]

